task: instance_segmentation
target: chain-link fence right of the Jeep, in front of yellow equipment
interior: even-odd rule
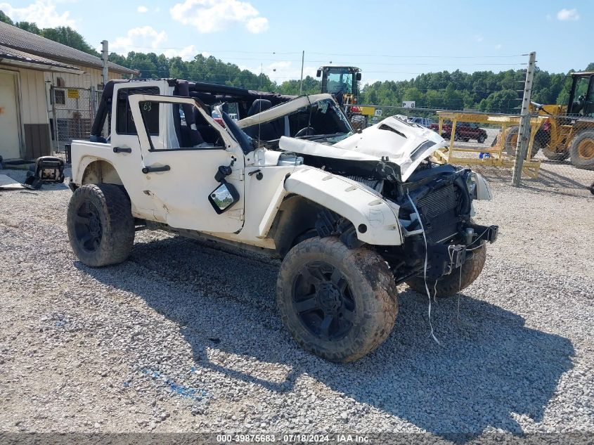
[[[490,181],[512,183],[521,138],[520,115],[368,106],[375,110],[368,117],[368,125],[396,115],[432,131],[441,130],[441,136],[449,142],[441,162],[467,165]],[[528,118],[530,132],[520,175],[522,187],[590,195],[594,183],[594,110],[586,110],[585,115],[551,115],[541,110],[531,112]]]

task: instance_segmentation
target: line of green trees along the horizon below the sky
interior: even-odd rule
[[[81,34],[70,27],[40,29],[31,22],[13,22],[2,11],[0,21],[93,56],[100,56],[86,43]],[[267,75],[242,70],[238,65],[226,63],[214,56],[205,57],[198,54],[192,60],[182,60],[180,57],[167,58],[164,54],[157,56],[156,53],[131,51],[127,56],[111,53],[110,61],[140,71],[138,77],[143,78],[174,77],[246,89],[299,94],[299,80],[276,83]],[[594,63],[590,63],[586,70],[594,71]],[[522,99],[524,77],[524,70],[429,72],[410,80],[386,80],[366,84],[359,91],[359,103],[381,107],[400,105],[403,101],[415,101],[417,108],[517,112]],[[570,86],[567,74],[550,73],[537,68],[532,100],[538,103],[566,103]],[[303,93],[320,91],[321,82],[318,79],[311,76],[304,78]],[[386,108],[384,115],[396,112],[397,110]]]

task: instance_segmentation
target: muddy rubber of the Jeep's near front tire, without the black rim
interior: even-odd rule
[[[303,312],[295,307],[301,273],[306,266],[320,263],[340,271],[339,283],[347,283],[354,302],[351,328],[337,340],[316,335],[299,315]],[[366,247],[349,249],[333,237],[309,238],[292,247],[280,265],[276,295],[280,317],[297,344],[323,359],[341,363],[360,359],[382,344],[398,312],[396,284],[385,260]],[[318,287],[312,295],[319,300]]]

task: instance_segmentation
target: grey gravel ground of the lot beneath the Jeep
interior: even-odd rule
[[[594,198],[493,187],[477,219],[500,238],[432,305],[441,344],[401,285],[392,335],[348,365],[285,331],[278,262],[142,231],[91,269],[65,186],[2,191],[0,431],[594,433]]]

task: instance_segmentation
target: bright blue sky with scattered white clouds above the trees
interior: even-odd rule
[[[356,65],[363,82],[517,69],[529,51],[553,72],[594,61],[594,1],[0,0],[0,9],[69,25],[93,46],[108,39],[110,51],[204,53],[277,82],[299,78],[303,50],[306,74]]]

